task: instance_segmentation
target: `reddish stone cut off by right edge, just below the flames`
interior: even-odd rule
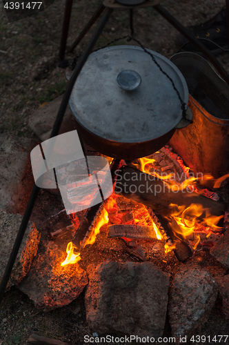
[[[210,255],[229,268],[229,230],[226,230],[217,244],[211,248]]]

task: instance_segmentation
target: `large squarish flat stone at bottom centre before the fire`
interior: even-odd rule
[[[166,322],[169,274],[152,262],[90,266],[86,317],[92,331],[160,337]]]

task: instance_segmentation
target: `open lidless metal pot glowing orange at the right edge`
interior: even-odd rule
[[[193,52],[171,59],[188,83],[193,124],[176,131],[170,145],[195,175],[210,173],[218,179],[229,172],[229,86]]]

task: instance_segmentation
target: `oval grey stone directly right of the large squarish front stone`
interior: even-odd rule
[[[217,299],[217,284],[197,265],[181,266],[172,282],[168,316],[172,335],[191,335],[208,320]]]

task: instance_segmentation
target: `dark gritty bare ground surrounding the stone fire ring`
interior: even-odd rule
[[[101,0],[74,1],[69,45],[99,3]],[[210,19],[224,4],[224,0],[161,1],[161,5],[185,26]],[[37,137],[28,126],[30,115],[43,103],[61,95],[66,88],[65,70],[58,67],[64,5],[63,0],[55,0],[52,6],[36,16],[8,23],[3,3],[0,3],[0,135],[9,134],[36,140]],[[136,38],[144,46],[168,58],[177,52],[177,30],[155,10],[138,10],[134,23]],[[96,48],[129,32],[128,14],[125,10],[115,11]],[[90,34],[87,34],[73,54],[66,54],[70,63],[74,56],[83,52],[89,37]],[[219,61],[229,72],[228,53],[219,55]],[[6,293],[0,306],[0,322],[1,345],[26,344],[26,339],[32,333],[68,344],[83,344],[83,336],[92,332],[86,324],[83,295],[66,307],[43,313],[34,308],[26,295],[12,288]],[[166,333],[169,334],[169,326],[166,327]],[[220,334],[227,331],[229,334],[229,324],[215,307],[208,324],[201,332],[213,335],[214,332]]]

